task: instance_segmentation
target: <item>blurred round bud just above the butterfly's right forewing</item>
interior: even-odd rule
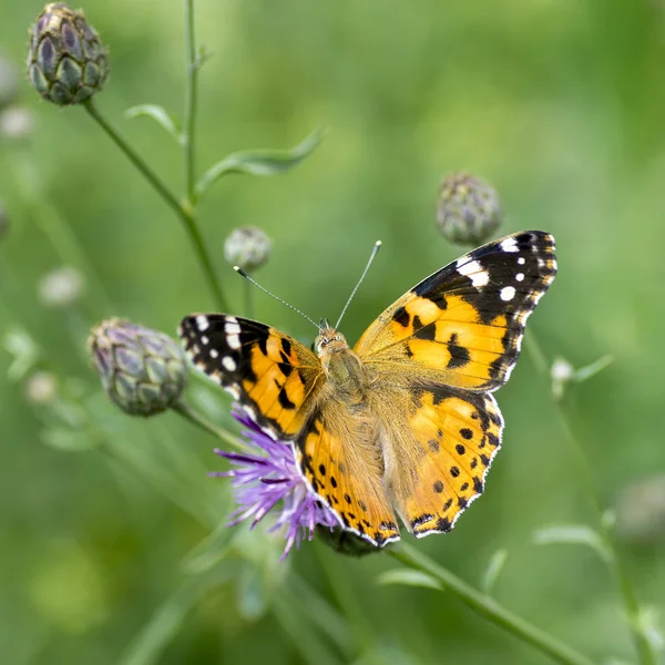
[[[485,181],[467,173],[443,178],[437,206],[441,235],[457,245],[480,245],[501,224],[499,195]]]

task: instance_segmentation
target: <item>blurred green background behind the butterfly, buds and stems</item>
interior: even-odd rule
[[[0,49],[18,68],[41,8],[3,7]],[[100,109],[180,195],[180,147],[123,111],[155,103],[182,117],[182,2],[83,9],[111,48]],[[539,546],[532,534],[591,522],[593,483],[618,507],[642,603],[665,607],[665,6],[197,0],[196,12],[212,54],[201,75],[201,171],[232,151],[290,147],[329,129],[288,175],[233,176],[203,202],[203,233],[238,310],[244,285],[222,252],[232,228],[266,229],[274,252],[258,278],[315,319],[337,316],[380,238],[344,325],[356,339],[462,253],[434,226],[450,171],[498,187],[503,233],[555,235],[560,274],[530,329],[550,361],[615,358],[566,395],[592,477],[579,472],[524,357],[499,395],[504,449],[484,498],[453,533],[417,548],[474,584],[505,549],[502,603],[597,662],[635,662],[598,556]],[[227,482],[206,477],[223,468],[218,442],[176,415],[120,415],[83,345],[112,315],[173,332],[183,315],[213,308],[202,273],[178,221],[83,110],[41,102],[25,81],[19,103],[34,129],[27,142],[0,137],[11,222],[0,238],[0,334],[10,347],[30,335],[60,398],[35,403],[31,372],[11,380],[13,356],[0,349],[2,662],[546,663],[450,594],[378,585],[396,567],[383,555],[345,559],[314,542],[279,564],[283,543],[265,525],[221,529],[201,544],[233,508]],[[72,307],[47,307],[39,284],[71,263],[68,233],[91,266],[76,266],[86,290]],[[311,341],[304,319],[258,293],[255,301],[258,318]],[[191,396],[227,419],[226,397],[197,380]]]

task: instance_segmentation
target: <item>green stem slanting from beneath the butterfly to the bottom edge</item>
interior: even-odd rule
[[[491,596],[473,589],[448,569],[438,565],[411,545],[400,543],[395,549],[388,550],[388,555],[413,570],[436,577],[447,591],[453,593],[473,612],[484,616],[484,618],[504,631],[512,633],[522,642],[531,644],[531,646],[541,653],[550,656],[555,663],[563,665],[593,665],[593,662],[586,656],[579,654],[541,628],[535,627],[510,610],[507,610]]]

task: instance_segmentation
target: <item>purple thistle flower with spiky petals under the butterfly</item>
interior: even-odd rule
[[[242,432],[256,454],[215,452],[234,466],[229,471],[211,473],[233,479],[237,510],[231,515],[229,526],[252,518],[252,526],[275,509],[277,522],[268,531],[286,526],[286,548],[282,560],[304,538],[311,540],[317,526],[332,531],[339,526],[335,513],[309,489],[296,461],[293,448],[264,432],[250,418],[233,411],[233,417],[245,426]],[[277,504],[282,502],[278,508]]]

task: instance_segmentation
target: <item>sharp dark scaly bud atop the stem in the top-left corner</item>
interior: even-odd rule
[[[104,85],[106,49],[82,11],[51,2],[37,18],[28,44],[28,75],[59,106],[80,104]]]

